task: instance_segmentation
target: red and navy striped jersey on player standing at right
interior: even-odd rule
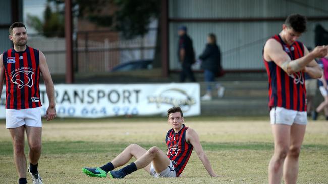
[[[282,49],[291,60],[304,56],[304,45],[301,42],[295,41],[292,45],[287,45],[279,35],[275,35],[271,39],[275,39],[281,44]],[[264,58],[263,60],[268,75],[270,109],[277,106],[296,111],[306,111],[304,73],[300,71],[288,75],[275,62],[267,62]]]

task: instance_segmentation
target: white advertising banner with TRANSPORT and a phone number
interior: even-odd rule
[[[200,115],[197,83],[169,84],[57,84],[57,117],[101,118],[122,115],[166,115],[181,107],[184,116]],[[48,107],[45,85],[40,85],[42,116]],[[6,88],[0,100],[0,118],[5,118]]]

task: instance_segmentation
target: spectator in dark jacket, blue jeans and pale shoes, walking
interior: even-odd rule
[[[199,59],[202,60],[201,68],[204,70],[205,82],[207,82],[207,93],[201,99],[211,100],[211,84],[215,81],[215,76],[222,70],[220,48],[216,44],[216,36],[213,33],[208,34],[206,48]],[[218,97],[222,97],[225,88],[220,84],[216,84],[216,87],[218,88]]]

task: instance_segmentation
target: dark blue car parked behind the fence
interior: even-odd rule
[[[150,70],[153,68],[152,60],[135,60],[115,66],[111,72],[117,71],[134,71],[134,70]]]

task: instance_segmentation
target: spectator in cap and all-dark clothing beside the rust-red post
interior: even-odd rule
[[[182,66],[180,82],[184,82],[186,77],[188,77],[192,82],[195,82],[196,79],[191,70],[191,65],[195,63],[195,52],[192,46],[192,40],[187,35],[187,28],[185,26],[179,27],[178,34],[178,58]]]

